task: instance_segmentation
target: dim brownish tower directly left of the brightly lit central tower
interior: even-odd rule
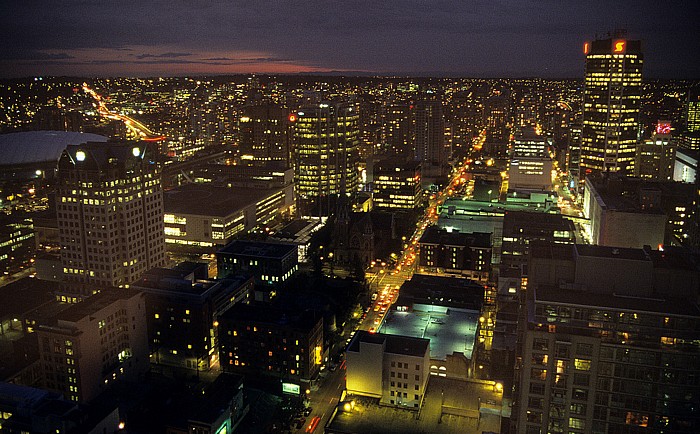
[[[243,107],[239,118],[241,162],[276,162],[289,167],[290,125],[288,110],[275,104]]]

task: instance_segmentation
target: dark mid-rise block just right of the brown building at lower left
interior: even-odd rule
[[[216,321],[250,301],[253,279],[209,280],[206,264],[198,264],[199,275],[188,265],[149,270],[132,287],[146,294],[151,363],[208,370],[219,359]]]

